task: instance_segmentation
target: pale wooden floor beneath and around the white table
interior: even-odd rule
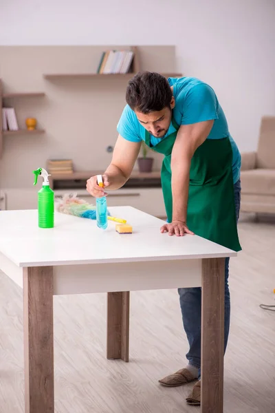
[[[275,412],[275,222],[242,220],[232,259],[225,412]],[[23,410],[22,291],[0,273],[0,411]],[[185,365],[177,292],[131,293],[130,363],[105,359],[106,296],[54,298],[56,413],[186,413],[190,385],[157,380]],[[38,412],[39,413],[39,412]]]

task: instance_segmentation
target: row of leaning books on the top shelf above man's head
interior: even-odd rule
[[[107,50],[107,52],[102,53],[98,73],[128,73],[132,61],[133,52],[131,50]]]

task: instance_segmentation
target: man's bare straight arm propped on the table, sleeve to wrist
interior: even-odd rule
[[[192,156],[206,140],[214,120],[181,125],[171,156],[173,221],[186,223],[189,174]]]

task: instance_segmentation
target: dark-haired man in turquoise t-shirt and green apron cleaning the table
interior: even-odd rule
[[[136,74],[126,89],[126,103],[118,123],[118,140],[104,185],[118,189],[131,176],[142,140],[164,154],[162,190],[168,235],[197,234],[240,251],[239,218],[241,156],[212,87],[197,78],[164,78],[157,73]],[[87,191],[105,195],[96,177]],[[228,264],[225,261],[225,348],[230,324]],[[189,343],[185,368],[159,380],[169,387],[196,381],[186,399],[200,404],[201,288],[179,288],[184,330]]]

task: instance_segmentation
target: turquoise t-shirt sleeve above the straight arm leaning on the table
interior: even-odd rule
[[[181,102],[183,105],[181,125],[218,119],[216,94],[212,87],[205,83],[195,85],[185,95],[183,92],[179,93],[177,104],[180,105]]]

